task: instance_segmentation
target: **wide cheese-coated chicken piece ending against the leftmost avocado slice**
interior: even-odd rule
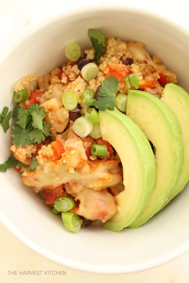
[[[102,190],[121,182],[119,160],[88,161],[83,141],[74,134],[63,143],[63,146],[65,153],[59,160],[53,160],[52,156],[42,158],[42,153],[39,151],[37,158],[40,165],[33,171],[24,172],[23,182],[38,190],[54,189],[65,183],[77,183],[86,188]]]

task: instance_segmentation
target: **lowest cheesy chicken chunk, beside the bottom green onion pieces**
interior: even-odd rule
[[[83,188],[75,199],[79,199],[80,203],[79,208],[74,208],[74,212],[90,220],[99,219],[106,222],[117,212],[116,200],[107,190],[97,192]]]

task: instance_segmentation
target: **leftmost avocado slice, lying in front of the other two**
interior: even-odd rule
[[[116,107],[99,111],[102,138],[117,151],[123,166],[125,190],[116,195],[118,212],[103,227],[120,231],[144,209],[156,184],[156,164],[151,146],[134,122]]]

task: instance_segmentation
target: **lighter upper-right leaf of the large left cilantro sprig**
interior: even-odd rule
[[[28,108],[28,112],[33,119],[32,126],[43,131],[43,118],[46,115],[44,108],[40,108],[38,104],[31,104],[31,106]]]

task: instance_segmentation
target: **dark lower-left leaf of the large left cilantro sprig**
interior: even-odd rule
[[[16,146],[24,146],[26,144],[31,145],[34,143],[33,140],[30,139],[29,134],[33,130],[33,127],[31,125],[31,122],[28,124],[26,129],[24,130],[21,128],[19,125],[15,126],[15,129],[12,130],[12,134],[14,135],[13,137],[13,143]]]

